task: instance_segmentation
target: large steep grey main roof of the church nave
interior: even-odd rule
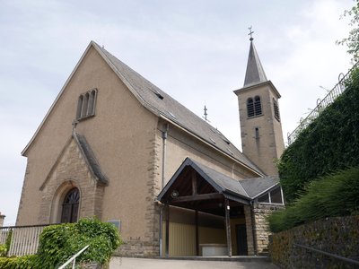
[[[90,48],[95,48],[103,59],[112,68],[118,78],[124,82],[129,91],[131,91],[137,100],[141,102],[144,108],[149,109],[158,117],[162,117],[172,124],[179,126],[180,128],[187,131],[189,134],[194,135],[197,139],[202,140],[211,147],[215,148],[219,152],[222,152],[226,156],[232,158],[235,161],[239,161],[244,167],[257,173],[258,176],[264,175],[264,173],[258,169],[258,167],[251,162],[246,156],[244,156],[221,132],[210,126],[205,120],[197,117],[188,108],[181,105],[177,100],[171,98],[170,95],[153,85],[152,82],[146,80],[143,76],[136,73],[133,69],[118,60],[117,57],[112,56],[106,49],[101,48],[94,41],[91,41],[89,46],[86,48],[83,56],[79,63],[75,66],[74,71],[67,79],[66,84],[57,96],[57,100],[60,98],[63,91],[65,91],[67,83],[71,80],[76,69],[81,64],[83,57],[87,54]],[[32,141],[35,139],[39,130],[46,121],[52,108],[55,106],[57,100],[53,103],[48,111],[48,114],[41,122],[38,130],[31,138],[31,142],[22,151],[24,155],[29,149]]]

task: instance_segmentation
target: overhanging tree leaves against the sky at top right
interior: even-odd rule
[[[354,63],[359,60],[359,0],[355,0],[355,2],[355,5],[343,14],[343,17],[351,17],[349,25],[353,29],[349,31],[349,36],[346,39],[337,41],[338,45],[346,45],[347,52],[352,55]]]

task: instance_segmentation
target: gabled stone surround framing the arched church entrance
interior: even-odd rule
[[[72,187],[77,187],[81,195],[78,217],[96,216],[101,219],[104,187],[99,186],[97,179],[92,176],[74,139],[67,144],[40,188],[43,195],[39,223],[60,221],[61,204]]]

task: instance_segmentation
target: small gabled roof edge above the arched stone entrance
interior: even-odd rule
[[[51,177],[52,173],[56,169],[58,161],[61,159],[64,152],[66,152],[66,148],[67,148],[68,144],[71,143],[72,139],[74,139],[74,142],[79,147],[79,150],[83,156],[83,160],[86,162],[87,168],[92,173],[92,176],[97,179],[97,181],[100,185],[107,186],[109,184],[109,179],[105,176],[105,174],[102,173],[100,164],[96,160],[95,155],[92,152],[90,144],[87,143],[87,141],[83,135],[73,133],[71,138],[67,141],[62,152],[58,155],[57,161],[55,161],[54,165],[50,169],[48,176],[45,178],[44,182],[41,184],[41,187],[39,187],[40,190],[42,190],[46,186],[48,179]]]

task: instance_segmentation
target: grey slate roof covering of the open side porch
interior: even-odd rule
[[[180,174],[188,167],[196,170],[208,184],[215,188],[217,193],[223,194],[228,199],[244,204],[249,204],[250,201],[258,198],[259,195],[262,195],[279,185],[279,178],[272,177],[250,178],[246,180],[229,178],[215,169],[208,168],[206,165],[187,158],[183,161],[180,168],[172,176],[166,186],[163,187],[161,193],[157,197],[158,200],[162,201],[165,196],[169,195],[172,185],[175,184],[180,177]]]

